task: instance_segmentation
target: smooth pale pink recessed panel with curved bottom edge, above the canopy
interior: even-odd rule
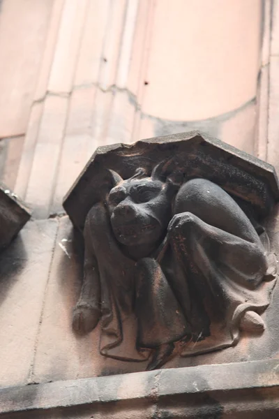
[[[254,98],[261,11],[259,0],[156,3],[143,112],[197,121]]]

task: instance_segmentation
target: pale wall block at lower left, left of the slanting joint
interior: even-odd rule
[[[0,387],[32,381],[57,221],[29,221],[0,255]]]

